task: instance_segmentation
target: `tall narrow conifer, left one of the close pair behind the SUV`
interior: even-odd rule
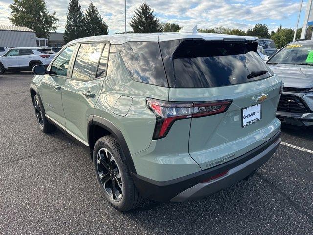
[[[70,0],[63,39],[65,42],[69,42],[84,36],[85,32],[83,11],[78,3],[78,0]]]

